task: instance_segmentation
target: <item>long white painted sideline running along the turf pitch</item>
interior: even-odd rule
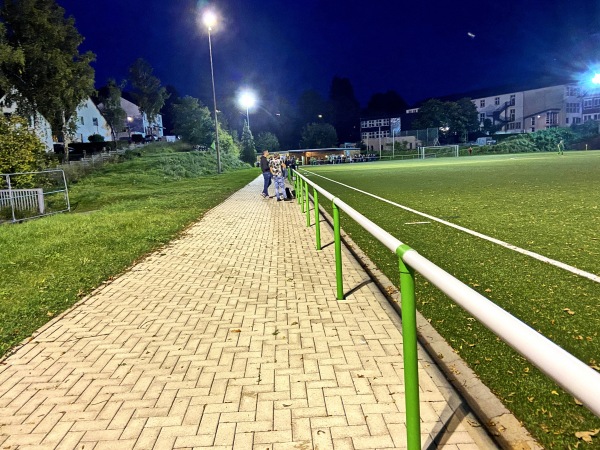
[[[461,227],[460,225],[456,225],[454,223],[447,222],[447,221],[442,220],[442,219],[438,219],[437,217],[430,216],[429,214],[426,214],[426,213],[422,213],[420,211],[417,211],[416,209],[409,208],[408,206],[400,205],[399,203],[392,202],[391,200],[387,200],[387,199],[379,197],[379,196],[377,196],[375,194],[371,194],[370,192],[363,191],[361,189],[355,188],[354,186],[350,186],[348,184],[344,184],[344,183],[340,183],[339,181],[332,180],[331,178],[324,177],[323,175],[319,175],[318,173],[314,173],[314,172],[311,172],[309,170],[304,170],[304,171],[310,173],[311,175],[315,175],[317,177],[324,178],[325,180],[331,181],[332,183],[336,183],[336,184],[339,184],[340,186],[344,186],[344,187],[346,187],[348,189],[352,189],[352,190],[354,190],[356,192],[360,192],[361,194],[365,194],[365,195],[368,195],[370,197],[376,198],[377,200],[381,200],[382,202],[389,203],[390,205],[393,205],[393,206],[396,206],[398,208],[404,209],[404,210],[409,211],[411,213],[418,214],[419,216],[425,217],[425,218],[430,219],[430,220],[434,220],[434,221],[439,222],[441,224],[447,225],[449,227],[452,227],[452,228],[455,228],[457,230],[463,231],[463,232],[468,233],[470,235],[476,236],[476,237],[478,237],[480,239],[484,239],[486,241],[493,242],[494,244],[501,245],[502,247],[508,248],[510,250],[514,250],[515,252],[521,253],[523,255],[527,255],[527,256],[529,256],[531,258],[535,258],[538,261],[545,262],[545,263],[550,264],[550,265],[555,266],[555,267],[560,267],[561,269],[567,270],[567,271],[569,271],[571,273],[574,273],[574,274],[579,275],[581,277],[587,278],[588,280],[592,280],[592,281],[595,281],[596,283],[600,283],[600,276],[595,275],[593,273],[589,273],[589,272],[586,272],[584,270],[578,269],[577,267],[573,267],[573,266],[570,266],[570,265],[565,264],[563,262],[556,261],[555,259],[548,258],[548,257],[546,257],[544,255],[540,255],[538,253],[534,253],[534,252],[531,252],[529,250],[525,250],[523,248],[517,247],[516,245],[509,244],[508,242],[501,241],[500,239],[496,239],[496,238],[487,236],[485,234],[478,233],[477,231],[469,230],[468,228]]]

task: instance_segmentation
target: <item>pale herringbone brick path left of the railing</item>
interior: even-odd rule
[[[346,290],[363,285],[335,300],[333,245],[315,251],[297,203],[262,199],[261,183],[0,365],[0,449],[406,446],[383,296],[345,251]],[[423,448],[488,448],[427,366]]]

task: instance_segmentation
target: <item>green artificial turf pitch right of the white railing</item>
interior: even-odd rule
[[[600,283],[330,181],[600,275],[600,151],[302,169],[402,242],[600,370]],[[395,256],[343,214],[342,227],[398,285]],[[593,435],[600,430],[598,417],[418,275],[417,308],[544,447],[600,448],[600,433]],[[582,431],[590,432],[591,443],[575,435]]]

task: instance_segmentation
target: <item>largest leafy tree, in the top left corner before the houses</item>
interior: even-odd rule
[[[9,102],[18,112],[42,114],[68,148],[77,107],[94,92],[95,55],[79,53],[83,37],[73,17],[54,0],[5,0],[0,11],[7,43],[23,52],[19,59],[0,61],[1,72],[11,86]],[[65,152],[68,158],[68,152]]]

